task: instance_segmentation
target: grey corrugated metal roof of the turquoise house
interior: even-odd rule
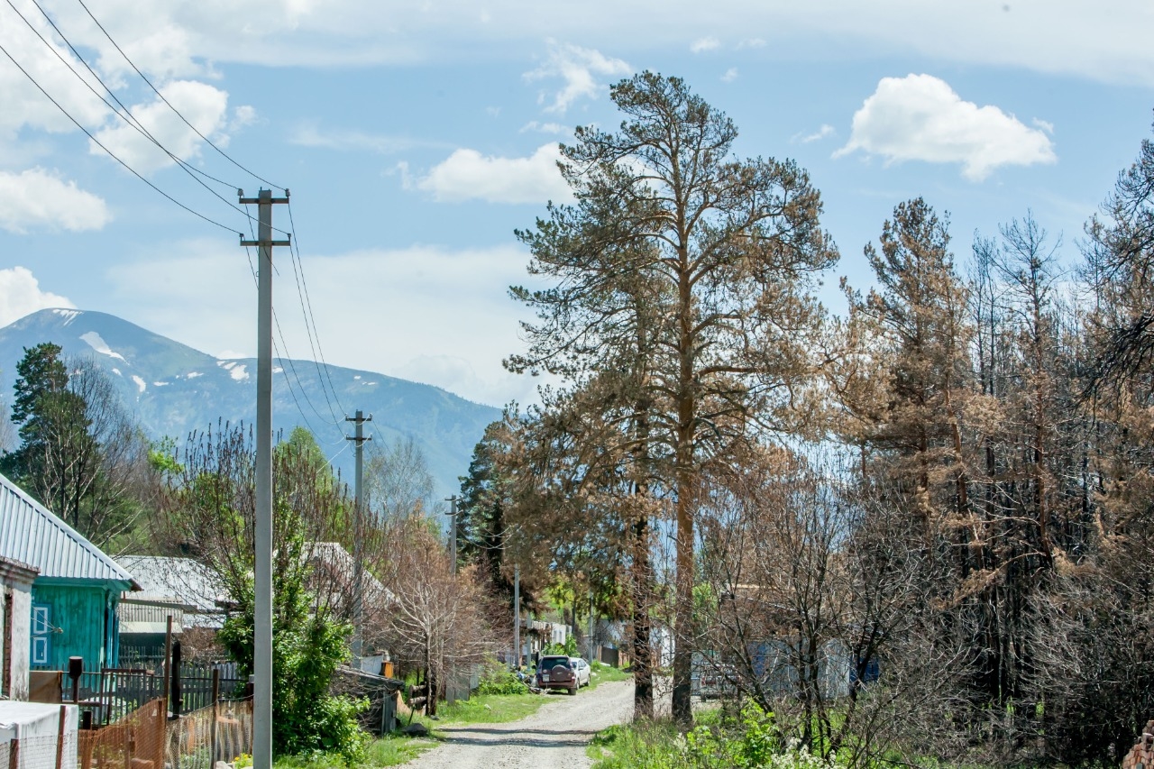
[[[0,555],[36,567],[42,577],[112,580],[140,589],[132,574],[2,475]]]

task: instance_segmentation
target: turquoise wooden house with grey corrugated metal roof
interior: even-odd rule
[[[140,585],[2,475],[0,557],[38,572],[31,590],[32,669],[68,670],[69,657],[83,657],[85,670],[117,666],[117,604],[123,591],[138,590]]]

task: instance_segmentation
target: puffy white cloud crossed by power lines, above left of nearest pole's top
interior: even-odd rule
[[[228,106],[227,92],[190,80],[173,81],[164,85],[160,92],[204,136],[213,137],[213,134],[224,128]],[[203,143],[200,136],[159,98],[150,104],[133,106],[130,110],[140,125],[180,159],[188,160],[200,155]],[[175,163],[160,148],[119,119],[98,132],[96,137],[121,160],[141,173],[159,171]],[[217,135],[216,139],[225,141],[224,135]],[[93,155],[104,155],[104,150],[95,143],[90,145],[89,151]]]

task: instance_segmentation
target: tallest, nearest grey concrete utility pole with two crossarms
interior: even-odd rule
[[[287,203],[262,189],[256,197],[245,197],[241,206],[257,207],[256,240],[256,595],[253,615],[253,769],[272,768],[272,247],[291,240],[272,239],[272,206]]]

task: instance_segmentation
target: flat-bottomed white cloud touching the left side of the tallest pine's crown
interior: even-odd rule
[[[571,200],[561,178],[556,144],[542,144],[529,157],[485,156],[458,149],[417,182],[437,201],[485,200],[490,203],[539,203]]]

